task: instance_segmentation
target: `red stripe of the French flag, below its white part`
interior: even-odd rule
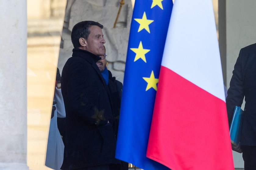
[[[233,170],[226,103],[161,66],[147,157],[172,170]]]

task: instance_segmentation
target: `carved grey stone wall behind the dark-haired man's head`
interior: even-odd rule
[[[129,40],[132,4],[125,0],[116,28],[113,28],[120,6],[120,0],[67,0],[62,40],[59,51],[58,68],[62,72],[67,59],[72,55],[71,30],[73,26],[85,20],[101,23],[106,40],[106,60],[108,69],[117,80],[123,82],[126,53]]]

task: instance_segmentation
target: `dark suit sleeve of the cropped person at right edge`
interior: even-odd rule
[[[230,87],[227,92],[226,105],[228,112],[229,127],[232,121],[235,106],[240,106],[244,100],[244,86],[243,86],[243,52],[240,50],[239,56],[234,66],[233,75],[230,80]]]

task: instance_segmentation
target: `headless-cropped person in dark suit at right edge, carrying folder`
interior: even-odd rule
[[[243,152],[244,169],[256,169],[256,44],[240,50],[233,70],[226,98],[229,127],[235,106],[240,106],[245,97],[241,143],[232,146]]]

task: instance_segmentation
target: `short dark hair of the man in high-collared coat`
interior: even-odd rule
[[[74,48],[78,48],[81,46],[79,38],[84,38],[86,40],[88,39],[89,34],[91,33],[89,28],[93,25],[103,29],[103,25],[94,21],[81,21],[73,27],[71,32],[71,41],[73,43]]]

